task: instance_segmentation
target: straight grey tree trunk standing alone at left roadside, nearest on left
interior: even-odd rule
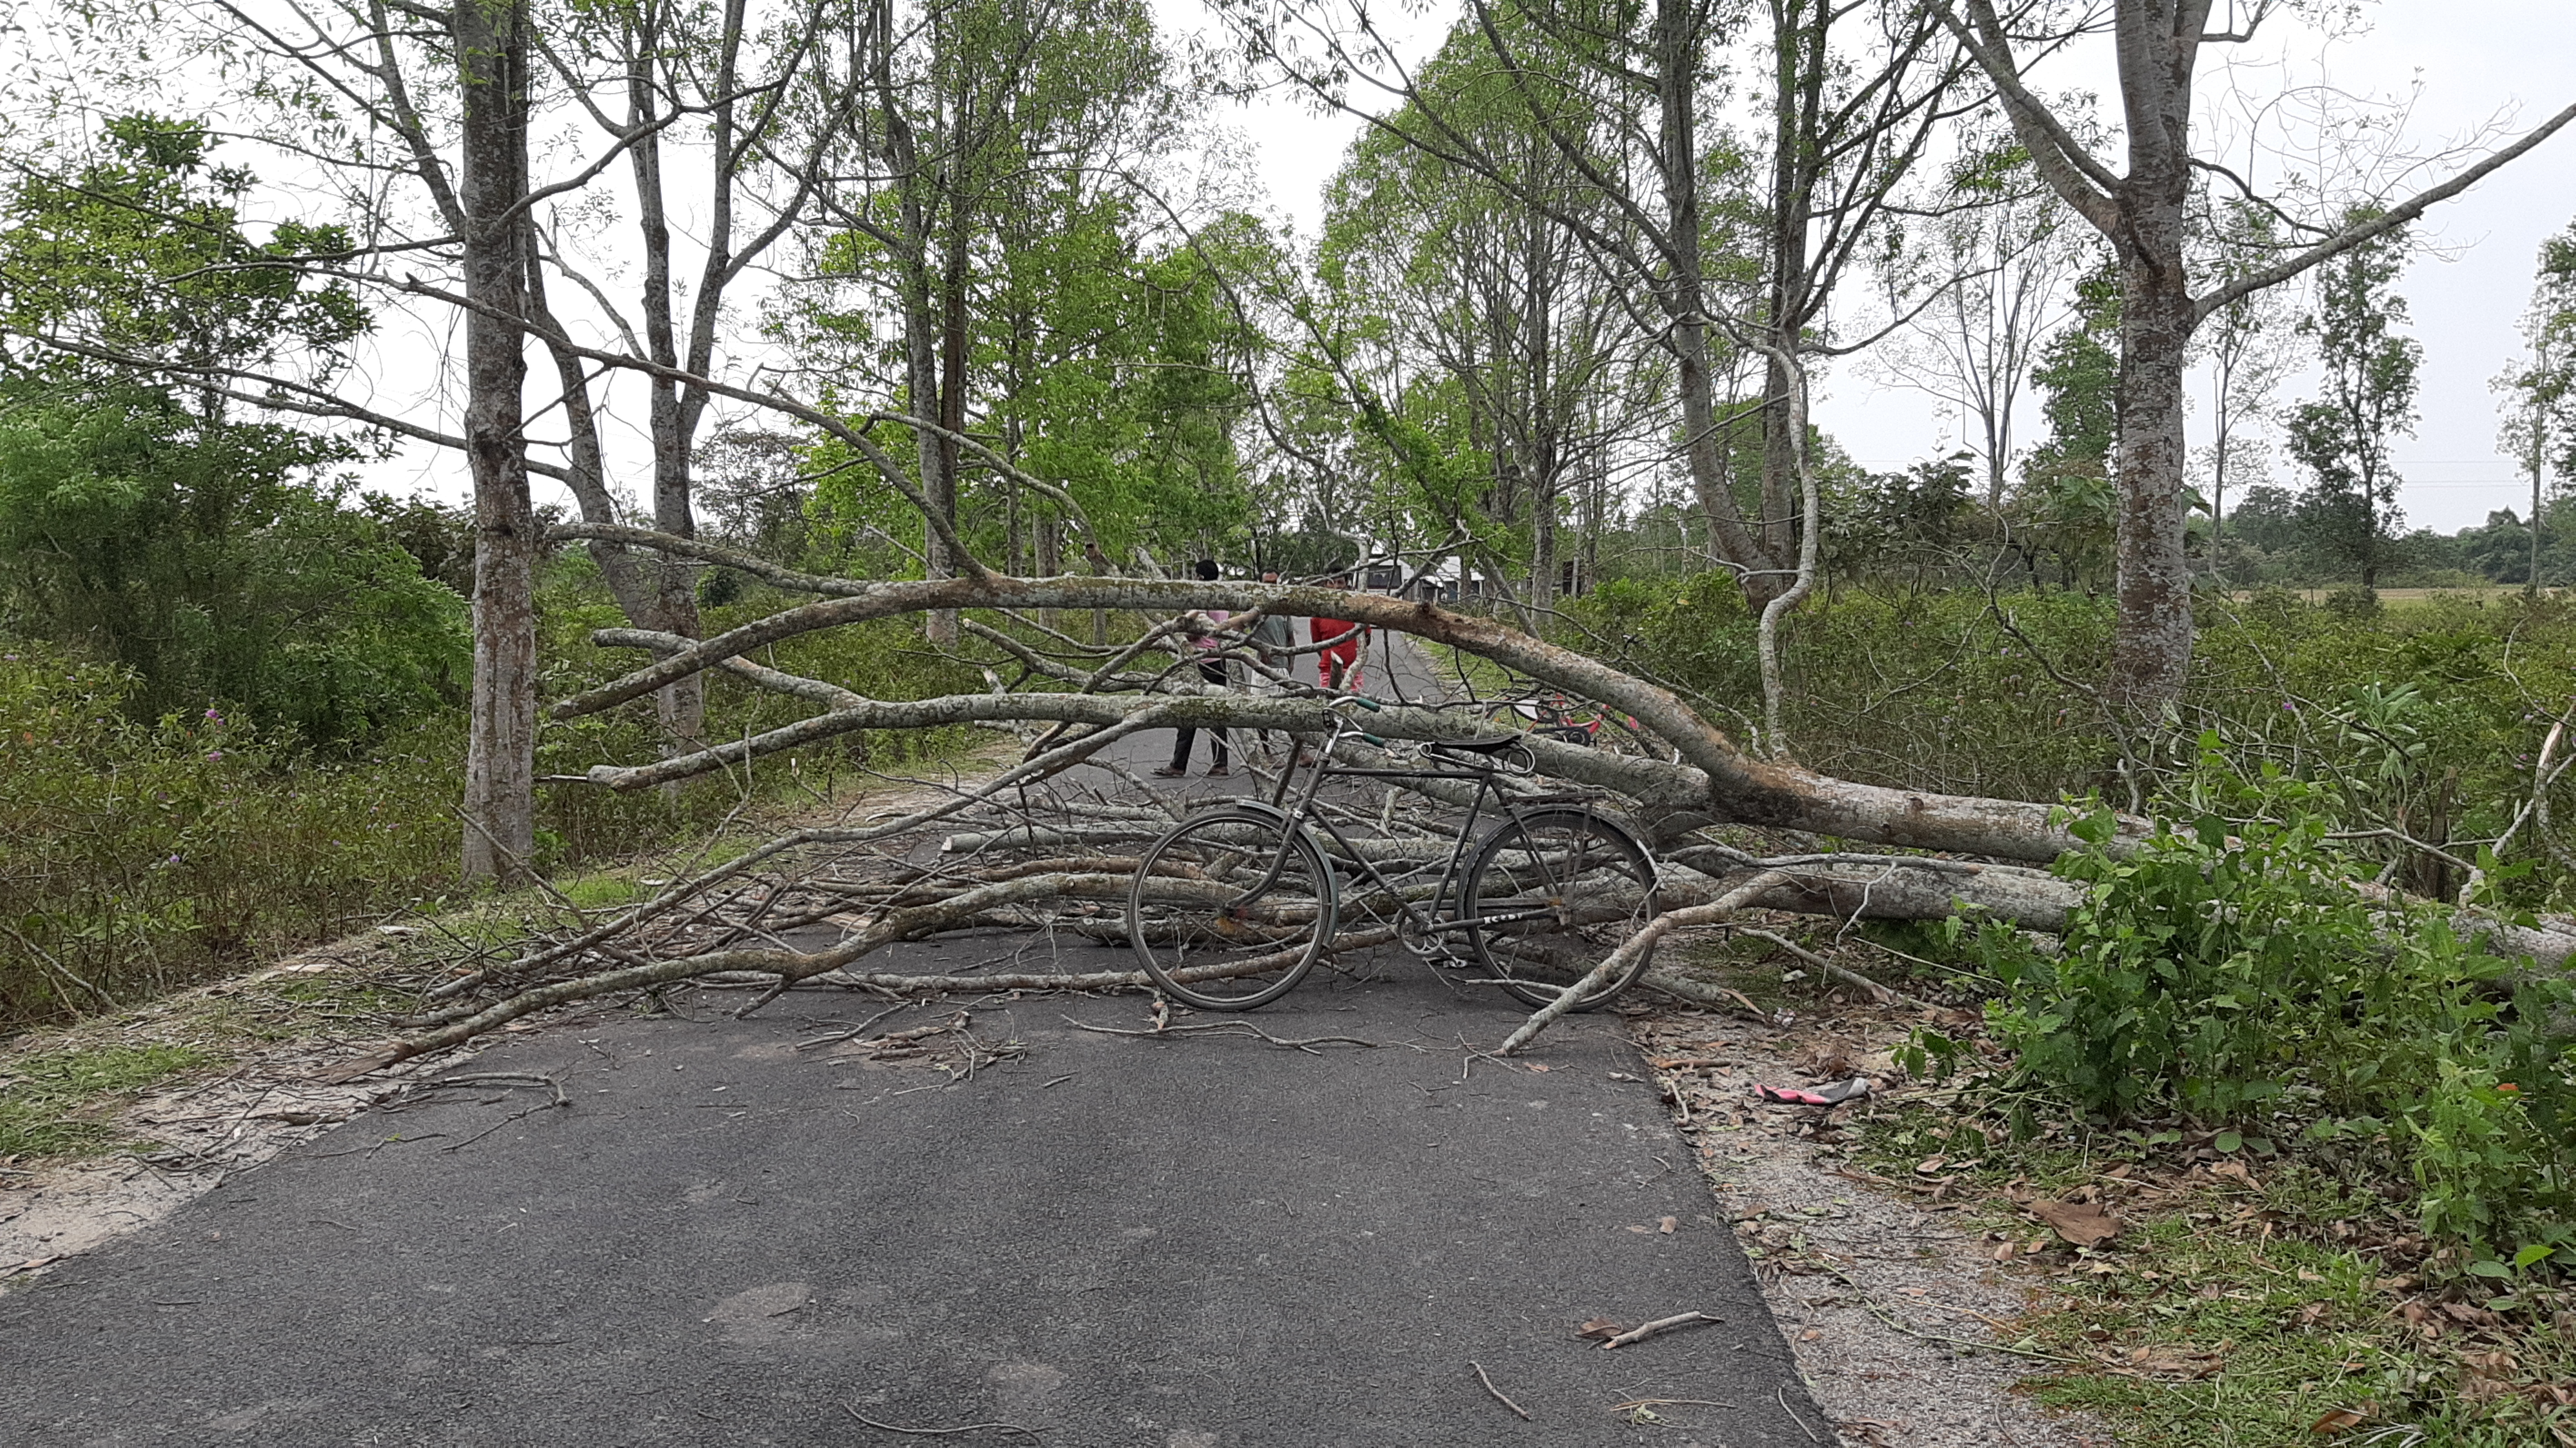
[[[474,469],[474,693],[466,734],[469,881],[515,881],[536,850],[536,515],[528,505],[526,229],[528,15],[520,0],[453,10],[464,103],[466,459]]]

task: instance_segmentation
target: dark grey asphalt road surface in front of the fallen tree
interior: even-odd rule
[[[1028,997],[971,1023],[1025,1059],[951,1080],[796,1051],[817,1000],[770,1010],[515,1036],[464,1069],[569,1108],[361,1116],[0,1299],[0,1440],[922,1443],[858,1412],[1056,1448],[1589,1445],[1638,1440],[1636,1399],[1692,1399],[1651,1407],[1672,1448],[1832,1440],[1605,1020],[1543,1074],[1468,1059],[1512,1013],[1406,961],[1252,1018],[1373,1049],[1097,1036],[1064,1018],[1144,1005]],[[1690,1309],[1723,1322],[1571,1335]]]

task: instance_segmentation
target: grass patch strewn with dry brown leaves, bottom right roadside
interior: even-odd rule
[[[2576,1396],[2563,1394],[2576,1381],[2576,1314],[2563,1304],[2576,1299],[2561,1288],[2424,1291],[2406,1262],[2409,1242],[2421,1247],[2411,1221],[2306,1162],[2249,1157],[2244,1177],[2182,1175],[2184,1159],[2136,1141],[2063,1121],[2040,1131],[2014,1141],[2002,1118],[1917,1103],[1862,1118],[1852,1139],[1855,1159],[1891,1177],[1945,1157],[1976,1203],[1963,1224],[2050,1239],[2022,1268],[2032,1309],[2007,1329],[2017,1348],[2063,1360],[2027,1384],[2040,1402],[2159,1448],[2362,1443],[2391,1427],[2406,1433],[2375,1443],[2576,1443],[2576,1402],[2561,1402]],[[2097,1250],[2053,1242],[2004,1196],[2099,1190],[2115,1167],[2154,1185],[2105,1193],[2125,1229]],[[2396,1260],[2375,1260],[2372,1244]],[[2339,1409],[2362,1415],[2349,1438],[2311,1433]]]

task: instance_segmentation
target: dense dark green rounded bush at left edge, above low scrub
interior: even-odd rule
[[[464,600],[296,482],[314,451],[137,392],[0,412],[10,629],[131,670],[137,719],[216,706],[355,745],[459,698]]]

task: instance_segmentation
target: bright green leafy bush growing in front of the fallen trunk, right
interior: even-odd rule
[[[2058,951],[1984,938],[2014,1077],[2110,1121],[2385,1144],[2424,1232],[2470,1260],[2568,1239],[2576,987],[2372,899],[2331,788],[2200,747],[2190,830],[2115,855],[2107,812],[2076,824],[2097,848],[2058,866],[2089,886]]]

